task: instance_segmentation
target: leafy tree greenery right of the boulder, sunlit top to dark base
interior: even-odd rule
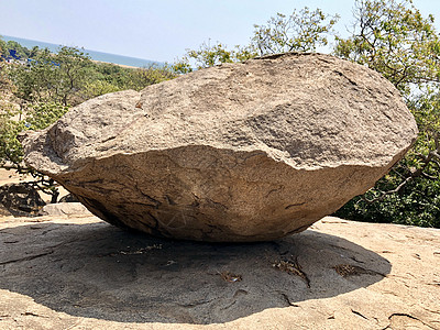
[[[359,0],[352,36],[338,38],[336,55],[392,81],[420,131],[407,156],[339,216],[440,227],[440,38],[433,22],[411,1]]]

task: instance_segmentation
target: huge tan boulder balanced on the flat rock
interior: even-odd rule
[[[156,235],[272,240],[364,193],[417,127],[360,65],[284,54],[84,102],[25,141],[25,161],[101,219]]]

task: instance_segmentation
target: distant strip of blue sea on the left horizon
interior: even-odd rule
[[[1,36],[4,41],[15,41],[26,48],[32,48],[34,46],[38,46],[40,48],[48,48],[51,52],[57,52],[59,48],[59,45],[40,42],[40,41],[35,41],[35,40],[29,40],[29,38],[22,38],[22,37],[16,37],[16,36],[9,36],[9,35],[1,35]],[[91,57],[91,59],[95,59],[95,61],[122,64],[122,65],[129,65],[129,66],[135,66],[135,67],[145,67],[145,66],[150,66],[152,64],[163,65],[163,63],[161,63],[161,62],[154,62],[154,61],[142,59],[142,58],[136,58],[136,57],[122,56],[122,55],[96,52],[96,51],[90,51],[90,50],[81,50],[81,51],[87,53]]]

